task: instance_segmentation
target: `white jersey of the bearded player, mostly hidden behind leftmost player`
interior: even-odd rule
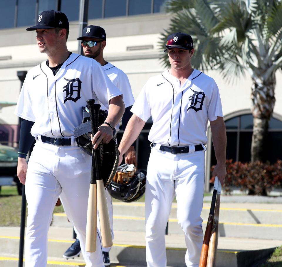
[[[120,90],[120,92],[122,92],[125,107],[127,108],[132,106],[134,103],[134,97],[127,75],[111,63],[107,63],[106,65],[102,66],[102,68],[105,70],[113,84]],[[106,107],[101,106],[101,109],[105,110]],[[119,128],[120,124],[118,123],[115,126],[115,129],[118,131]]]

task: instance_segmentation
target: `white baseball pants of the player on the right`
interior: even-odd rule
[[[204,148],[205,150],[205,148]],[[166,267],[164,232],[174,196],[185,235],[187,266],[198,267],[203,242],[204,151],[172,154],[153,147],[147,169],[145,216],[148,267]]]

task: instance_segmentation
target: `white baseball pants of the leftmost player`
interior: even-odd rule
[[[85,252],[91,160],[91,156],[76,146],[55,146],[42,143],[40,139],[36,141],[26,178],[25,266],[46,266],[48,229],[59,196],[68,218],[78,230],[86,266],[104,266],[99,230],[96,251]]]

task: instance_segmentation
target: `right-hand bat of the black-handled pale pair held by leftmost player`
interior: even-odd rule
[[[95,103],[94,99],[89,99],[86,102],[88,104],[89,113],[90,113],[92,135],[94,136],[94,134],[98,131],[98,118],[99,118],[99,110],[101,106],[99,104],[94,104]],[[94,168],[96,173],[97,204],[98,204],[98,212],[100,219],[102,245],[103,247],[110,247],[113,246],[113,240],[111,234],[110,218],[109,218],[108,205],[106,200],[105,186],[104,186],[103,177],[101,176],[100,173],[100,155],[97,149],[94,149],[92,158],[94,158],[94,163],[95,163]],[[96,216],[96,227],[97,227],[97,212],[95,216]]]

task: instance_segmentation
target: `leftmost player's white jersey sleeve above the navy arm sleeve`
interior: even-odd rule
[[[22,119],[34,122],[35,116],[32,110],[32,103],[28,85],[28,81],[30,78],[31,77],[28,72],[24,80],[24,84],[21,87],[21,92],[19,94],[19,99],[14,114],[21,117]]]

